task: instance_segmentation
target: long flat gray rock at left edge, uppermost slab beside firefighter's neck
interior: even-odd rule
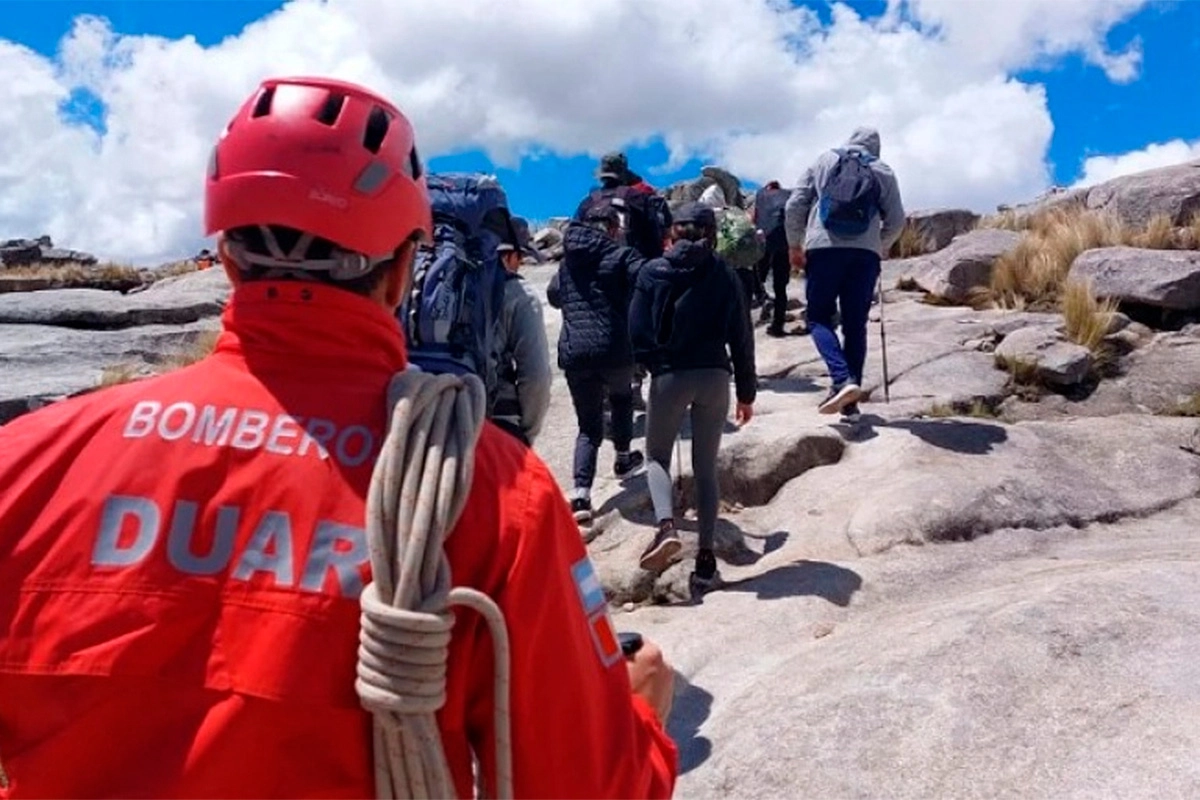
[[[229,295],[224,270],[204,270],[158,281],[122,295],[101,289],[50,289],[0,295],[0,324],[113,330],[180,325],[216,317]]]

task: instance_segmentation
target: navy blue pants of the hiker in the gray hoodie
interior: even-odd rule
[[[858,247],[822,247],[806,253],[808,321],[817,353],[829,369],[834,386],[853,381],[863,385],[866,363],[866,318],[880,279],[880,257]],[[841,311],[841,335],[833,329]]]

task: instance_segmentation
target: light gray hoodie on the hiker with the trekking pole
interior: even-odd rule
[[[847,150],[864,150],[876,160],[880,156],[880,132],[875,128],[857,128],[846,142]],[[871,225],[860,236],[840,239],[834,236],[824,225],[817,213],[817,198],[821,187],[826,185],[829,172],[838,163],[838,154],[829,150],[817,158],[816,163],[809,167],[800,179],[792,197],[787,200],[785,216],[785,228],[787,229],[787,243],[790,247],[804,247],[805,249],[818,249],[822,247],[858,247],[870,249],[884,255],[893,242],[900,237],[904,228],[905,211],[900,200],[900,186],[896,184],[895,173],[882,161],[871,162],[871,169],[880,180],[880,211],[881,224]]]

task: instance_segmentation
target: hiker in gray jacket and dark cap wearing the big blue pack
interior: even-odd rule
[[[528,229],[517,228],[521,247],[497,247],[506,271],[504,302],[497,320],[496,398],[492,421],[527,445],[533,445],[550,409],[550,345],[542,323],[541,300],[521,277],[522,255],[538,259],[528,243]]]

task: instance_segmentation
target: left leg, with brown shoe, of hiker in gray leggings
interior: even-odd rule
[[[679,435],[679,423],[691,402],[686,373],[668,372],[650,378],[650,402],[646,415],[646,452],[649,463],[646,480],[658,523],[654,539],[642,553],[643,570],[661,572],[682,547],[674,533],[674,485],[671,480],[671,450]]]

